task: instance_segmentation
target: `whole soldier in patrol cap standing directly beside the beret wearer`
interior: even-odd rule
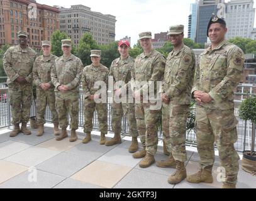
[[[170,26],[170,42],[174,50],[169,53],[162,87],[162,123],[164,141],[170,153],[169,160],[158,161],[157,166],[175,167],[169,183],[180,183],[187,177],[184,162],[186,154],[186,122],[191,104],[191,89],[194,80],[195,56],[184,45],[184,26]],[[165,125],[166,124],[166,125]]]

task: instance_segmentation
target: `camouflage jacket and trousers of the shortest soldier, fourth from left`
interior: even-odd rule
[[[87,65],[82,72],[82,89],[84,91],[84,133],[92,131],[92,117],[94,111],[97,111],[99,120],[99,131],[102,134],[108,133],[108,104],[96,103],[88,99],[89,95],[94,95],[99,89],[94,88],[97,81],[106,83],[108,89],[108,68],[100,64],[94,67],[92,64]],[[106,89],[106,90],[107,90]]]

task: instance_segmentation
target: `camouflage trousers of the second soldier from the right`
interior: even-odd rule
[[[189,105],[172,105],[162,103],[162,130],[164,141],[175,161],[187,160],[186,123]]]

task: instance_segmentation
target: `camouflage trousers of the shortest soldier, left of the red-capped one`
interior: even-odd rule
[[[108,104],[97,104],[94,100],[88,98],[84,100],[84,133],[92,131],[92,118],[94,111],[97,111],[99,121],[99,131],[103,134],[108,133]]]

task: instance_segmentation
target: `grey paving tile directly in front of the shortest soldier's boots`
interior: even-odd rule
[[[100,156],[103,156],[105,153],[110,151],[111,149],[115,148],[116,145],[114,146],[105,146],[104,144],[101,145],[99,144],[98,141],[90,141],[87,144],[77,144],[73,148],[68,149],[66,152],[67,153],[72,153],[74,155],[81,155],[81,156],[90,156],[96,160]]]

